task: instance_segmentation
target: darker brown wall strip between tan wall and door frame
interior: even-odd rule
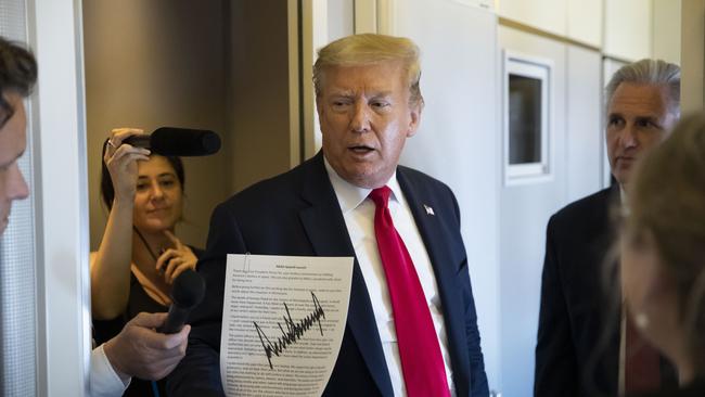
[[[289,28],[285,1],[232,1],[227,55],[231,192],[290,168]],[[304,71],[310,75],[310,66]],[[297,159],[295,159],[297,163]]]

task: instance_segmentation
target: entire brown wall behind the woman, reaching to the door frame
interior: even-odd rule
[[[219,154],[184,158],[187,221],[177,232],[200,247],[215,205],[298,162],[290,163],[286,12],[282,1],[84,3],[91,249],[105,227],[100,152],[112,128],[220,135]]]

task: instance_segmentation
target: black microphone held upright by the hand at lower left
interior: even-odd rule
[[[183,328],[191,309],[196,307],[206,292],[206,283],[201,274],[189,269],[174,280],[171,289],[172,304],[166,321],[156,331],[163,334],[174,334]]]

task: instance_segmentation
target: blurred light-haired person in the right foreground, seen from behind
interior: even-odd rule
[[[638,167],[628,191],[621,271],[628,312],[676,363],[680,389],[705,396],[705,114],[683,119]]]

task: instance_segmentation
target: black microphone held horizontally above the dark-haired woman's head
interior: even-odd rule
[[[162,127],[152,135],[131,136],[123,142],[163,156],[207,156],[220,150],[220,137],[205,129]]]

